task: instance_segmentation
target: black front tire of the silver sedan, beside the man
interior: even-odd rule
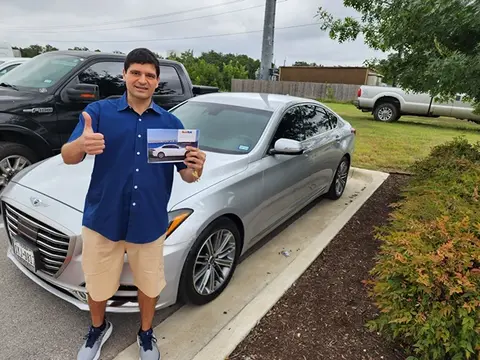
[[[206,251],[205,244],[207,240],[213,234],[219,232],[220,230],[227,230],[233,236],[233,239],[231,239],[231,242],[229,242],[229,245],[235,244],[235,253],[231,257],[232,265],[230,267],[230,270],[228,271],[228,274],[226,275],[223,282],[221,283],[221,285],[219,285],[215,289],[211,289],[213,291],[208,294],[206,293],[201,294],[199,291],[200,290],[199,285],[201,284],[201,280],[198,280],[196,283],[194,283],[194,271],[198,274],[199,272],[201,272],[200,271],[201,269],[204,269],[204,267],[198,264],[196,265],[197,257],[201,254],[204,254],[204,252]],[[215,241],[212,241],[212,244],[215,246]],[[240,232],[237,226],[235,225],[235,223],[226,217],[220,217],[215,221],[213,221],[204,231],[202,231],[202,233],[200,234],[198,239],[195,241],[192,248],[190,249],[190,252],[187,255],[187,258],[185,260],[185,264],[182,270],[181,280],[180,280],[179,298],[186,303],[191,303],[194,305],[204,305],[216,299],[227,287],[227,285],[230,283],[230,280],[232,279],[233,273],[235,272],[235,269],[238,264],[238,259],[240,257],[241,249],[242,249],[242,240],[241,240]],[[207,262],[206,259],[204,261]],[[215,264],[213,265],[213,267],[215,268],[216,266],[218,265],[215,265]],[[205,267],[208,268],[208,265],[205,265]],[[205,271],[205,274],[207,273],[207,271],[208,270]],[[204,277],[201,276],[200,279],[202,278]],[[207,283],[207,285],[209,284],[211,285],[210,280]]]

